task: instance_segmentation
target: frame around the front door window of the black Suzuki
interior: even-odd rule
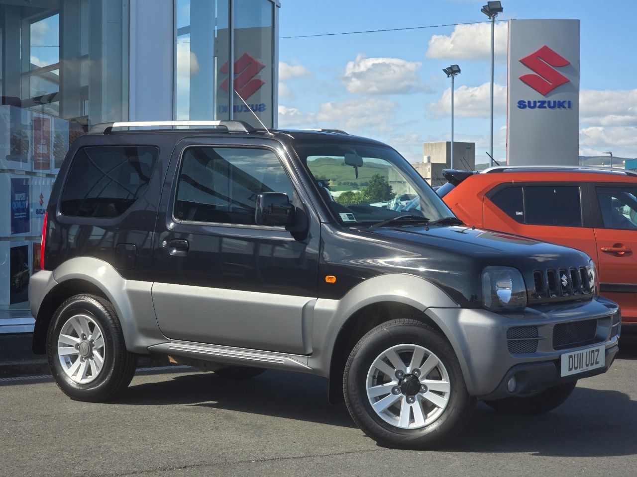
[[[261,150],[267,150],[271,153],[273,153],[276,157],[276,159],[279,162],[279,165],[281,166],[281,169],[283,170],[283,173],[285,174],[285,176],[287,177],[288,181],[290,182],[290,186],[292,186],[292,191],[293,193],[296,192],[297,197],[299,197],[300,199],[300,195],[299,195],[299,191],[297,190],[297,188],[294,186],[294,180],[292,180],[292,177],[290,177],[290,174],[287,170],[287,167],[285,167],[285,163],[283,162],[280,154],[278,153],[278,151],[276,151],[275,148],[271,148],[269,146],[266,145],[255,145],[255,144],[237,144],[236,142],[234,142],[233,144],[222,144],[222,143],[217,143],[217,144],[187,144],[186,146],[184,146],[182,148],[182,150],[179,153],[179,157],[178,157],[178,162],[175,168],[175,177],[173,179],[173,190],[171,191],[171,200],[170,200],[170,211],[169,211],[169,217],[170,219],[178,224],[184,224],[184,225],[199,225],[199,226],[215,226],[215,227],[227,227],[227,228],[243,228],[243,229],[252,229],[252,230],[283,230],[285,231],[285,226],[279,226],[279,225],[257,225],[257,224],[236,224],[236,223],[231,223],[231,222],[205,222],[205,221],[196,221],[196,220],[188,220],[188,219],[179,219],[175,217],[175,209],[176,209],[176,205],[177,205],[177,195],[179,192],[179,183],[180,183],[180,176],[182,173],[182,167],[183,167],[183,158],[185,156],[185,153],[188,149],[190,148],[224,148],[224,149],[261,149]],[[292,203],[292,200],[294,200],[294,197],[289,197],[290,203]]]

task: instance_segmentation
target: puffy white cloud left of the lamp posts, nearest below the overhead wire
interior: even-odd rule
[[[403,94],[431,92],[422,83],[418,70],[422,64],[399,58],[368,58],[359,53],[345,66],[343,83],[350,93]]]

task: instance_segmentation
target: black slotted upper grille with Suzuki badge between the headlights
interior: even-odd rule
[[[580,298],[592,293],[589,271],[585,266],[534,270],[534,300]]]

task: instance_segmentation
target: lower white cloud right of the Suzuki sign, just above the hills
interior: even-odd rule
[[[580,154],[603,155],[612,151],[617,157],[637,157],[637,127],[592,126],[580,129]]]

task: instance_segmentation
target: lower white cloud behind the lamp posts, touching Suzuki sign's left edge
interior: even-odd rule
[[[480,86],[460,86],[454,92],[454,114],[460,118],[489,118],[489,84]],[[506,86],[493,87],[494,115],[506,114]],[[451,115],[451,88],[447,88],[438,101],[430,103],[427,109],[436,117]]]

